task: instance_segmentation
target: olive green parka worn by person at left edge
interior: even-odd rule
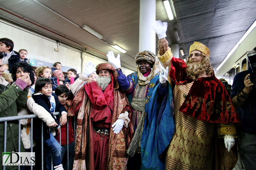
[[[11,77],[5,75],[5,80]],[[7,80],[7,81],[9,81]],[[18,111],[26,105],[29,88],[22,89],[13,84],[0,83],[0,117],[18,116]],[[5,123],[0,122],[0,154],[2,155],[4,149],[4,127]],[[6,152],[18,152],[18,120],[7,122],[7,138],[6,138]],[[20,139],[20,152],[26,152]],[[0,155],[0,162],[2,163],[3,157]],[[18,166],[5,166],[6,169],[18,169]],[[3,166],[0,165],[0,170]]]

